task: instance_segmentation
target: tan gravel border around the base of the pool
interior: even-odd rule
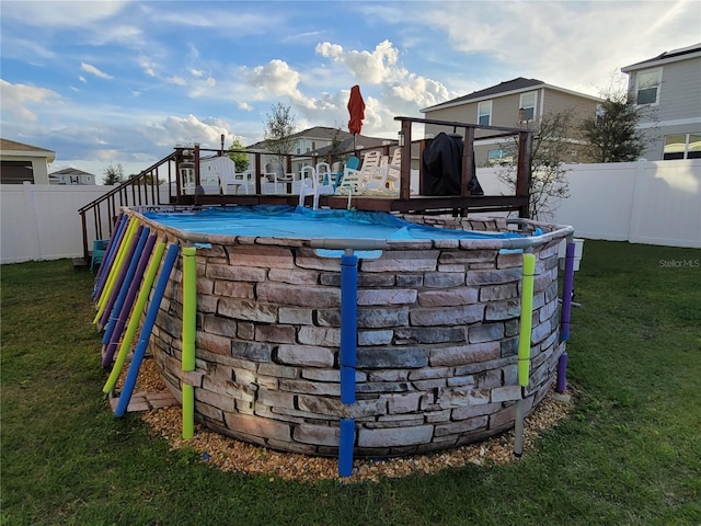
[[[149,359],[142,364],[137,389],[147,392],[166,389],[160,373]],[[571,391],[568,392],[571,393]],[[551,390],[526,418],[524,456],[533,449],[536,439],[542,433],[565,420],[572,408],[573,402],[568,393],[560,395]],[[142,413],[141,418],[148,424],[150,433],[165,438],[172,449],[189,447],[200,454],[203,461],[217,469],[269,476],[271,481],[277,478],[304,482],[318,480],[337,480],[344,483],[377,482],[383,477],[397,478],[416,473],[436,473],[443,469],[467,464],[490,466],[518,461],[519,459],[514,455],[514,432],[510,431],[480,443],[433,454],[381,460],[355,459],[353,474],[340,477],[336,458],[275,451],[220,435],[199,424],[195,425],[195,436],[191,441],[184,441],[181,437],[180,407],[147,411]]]

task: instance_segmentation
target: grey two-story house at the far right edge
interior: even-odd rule
[[[701,44],[621,68],[640,108],[648,147],[642,157],[701,158]]]

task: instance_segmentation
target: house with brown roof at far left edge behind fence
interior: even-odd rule
[[[48,165],[56,159],[56,152],[0,138],[0,183],[49,184]]]

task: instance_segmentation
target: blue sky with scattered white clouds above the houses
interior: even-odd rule
[[[175,145],[299,130],[397,138],[395,116],[517,77],[599,95],[620,68],[701,42],[701,0],[0,0],[0,135],[56,152],[49,172],[138,173]]]

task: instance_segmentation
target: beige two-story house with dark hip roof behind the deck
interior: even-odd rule
[[[572,112],[575,121],[596,113],[600,99],[558,88],[542,80],[519,77],[491,88],[459,96],[421,110],[427,119],[479,124],[483,126],[529,127],[538,132],[539,121],[548,114]],[[426,137],[452,129],[426,124]],[[479,139],[484,134],[478,133]],[[572,152],[565,162],[581,162],[577,140],[572,137]],[[510,163],[512,149],[502,138],[475,140],[474,155],[479,167]]]

